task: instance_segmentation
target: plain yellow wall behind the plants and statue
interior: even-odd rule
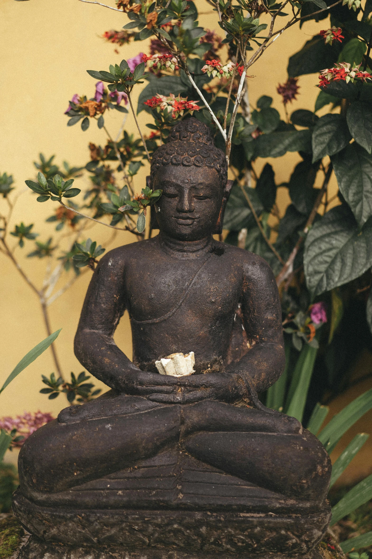
[[[211,22],[216,21],[214,12],[204,0],[196,1],[204,12],[200,17],[201,24],[211,27]],[[114,5],[112,0],[107,2]],[[283,23],[284,18],[280,19]],[[25,179],[35,175],[32,162],[40,151],[47,156],[56,154],[59,164],[65,159],[70,164],[84,165],[89,160],[89,141],[105,144],[104,132],[98,130],[95,123],[86,132],[81,131],[80,125],[70,128],[66,126],[67,117],[63,113],[74,93],[93,96],[95,80],[86,73],[86,69],[108,69],[110,63],[119,63],[122,58],[130,58],[139,50],[147,52],[147,42],[136,42],[119,48],[120,54],[115,54],[115,46],[100,38],[104,31],[119,30],[126,22],[126,16],[120,13],[78,0],[0,1],[0,172],[13,174],[17,192],[25,188]],[[249,79],[249,95],[253,105],[258,97],[267,94],[274,98],[273,106],[283,114],[276,87],[287,78],[288,57],[320,29],[326,29],[327,25],[324,21],[308,22],[301,32],[298,26],[292,27],[278,38],[275,45],[249,70],[249,73],[254,74]],[[218,26],[215,29],[218,31]],[[296,108],[313,110],[318,94],[316,83],[317,75],[299,78],[300,95],[298,101],[289,106],[289,112]],[[110,112],[105,120],[109,131],[116,134],[121,121],[120,113]],[[139,121],[144,125],[151,118],[142,112]],[[126,127],[128,131],[135,131],[132,115],[128,116]],[[297,154],[270,160],[276,171],[277,183],[288,180],[298,160]],[[264,163],[263,160],[256,163],[258,172]],[[144,168],[137,176],[137,190],[144,186],[147,171]],[[88,184],[86,177],[76,181],[76,186],[83,190]],[[279,190],[278,203],[283,213],[288,195],[285,189]],[[6,211],[6,207],[6,201],[0,198],[0,212]],[[21,220],[26,224],[33,222],[35,231],[40,233],[40,240],[46,240],[51,235],[57,240],[59,234],[55,233],[55,224],[45,222],[45,218],[52,215],[52,207],[52,202],[37,203],[35,196],[26,188],[17,202],[11,230]],[[89,234],[105,246],[111,231],[95,225]],[[132,241],[131,234],[120,233],[111,247]],[[65,247],[65,243],[62,240],[61,247]],[[32,281],[40,287],[46,259],[25,258],[32,248],[32,241],[26,241],[26,247],[23,250],[17,248],[15,255]],[[0,267],[2,383],[20,358],[45,338],[46,333],[35,294],[12,263],[1,254]],[[82,370],[73,353],[73,339],[90,276],[90,271],[85,273],[70,291],[50,307],[52,329],[63,328],[57,340],[57,349],[66,376],[70,371]],[[122,320],[115,340],[131,356],[131,333],[127,317]],[[38,393],[43,386],[41,373],[49,375],[53,370],[48,350],[1,395],[0,416],[15,416],[24,410],[37,409],[56,415],[66,405],[64,397],[49,401]]]

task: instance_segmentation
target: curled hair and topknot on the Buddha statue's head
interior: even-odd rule
[[[216,169],[223,186],[228,179],[225,154],[214,146],[210,128],[193,117],[173,126],[168,143],[154,151],[151,178],[153,179],[157,170],[165,165],[195,165]]]

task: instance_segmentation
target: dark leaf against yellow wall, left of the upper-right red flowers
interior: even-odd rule
[[[324,40],[317,35],[289,58],[288,75],[290,78],[296,78],[299,75],[320,72],[324,68],[332,68],[340,51],[339,44],[325,45]]]

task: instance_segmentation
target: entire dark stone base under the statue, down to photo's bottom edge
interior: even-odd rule
[[[21,559],[316,559],[330,507],[275,514],[51,508],[18,490],[13,511],[33,534]]]

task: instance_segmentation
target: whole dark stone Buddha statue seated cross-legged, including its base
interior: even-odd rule
[[[231,183],[209,128],[175,125],[148,182],[163,191],[160,233],[100,260],[75,337],[112,390],[22,447],[13,510],[33,534],[22,557],[316,553],[330,459],[258,400],[284,367],[278,290],[262,258],[212,236]],[[133,362],[113,340],[125,310]],[[176,352],[194,352],[193,375],[159,374]]]

